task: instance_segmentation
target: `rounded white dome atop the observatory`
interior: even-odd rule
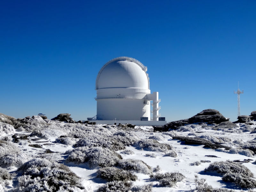
[[[96,79],[96,90],[104,88],[149,89],[147,67],[130,57],[110,60],[101,69]]]

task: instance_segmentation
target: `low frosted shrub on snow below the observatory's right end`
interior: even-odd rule
[[[134,143],[134,146],[137,148],[142,148],[148,151],[157,151],[157,152],[165,152],[168,150],[172,150],[172,146],[165,143],[159,143],[154,139],[144,139]]]

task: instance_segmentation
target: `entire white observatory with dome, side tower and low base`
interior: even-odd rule
[[[166,124],[159,114],[161,100],[158,92],[150,92],[147,67],[136,59],[117,57],[108,61],[98,73],[95,90],[97,115],[87,118],[89,121],[98,124]]]

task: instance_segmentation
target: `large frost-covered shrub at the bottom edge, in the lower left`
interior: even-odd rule
[[[23,164],[18,177],[19,191],[82,191],[79,178],[67,166],[35,158]]]

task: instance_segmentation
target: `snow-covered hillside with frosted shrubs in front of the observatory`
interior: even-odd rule
[[[154,132],[151,126],[73,124],[39,116],[24,119],[16,129],[0,122],[0,191],[108,191],[107,182],[113,191],[191,191],[196,186],[203,191],[198,187],[203,186],[201,178],[208,188],[239,191],[239,182],[224,181],[224,173],[204,169],[213,162],[239,160],[237,166],[256,175],[256,125],[250,124],[229,129],[189,124]],[[177,139],[181,137],[230,149],[188,144]],[[243,176],[253,188],[256,181],[247,172]]]

